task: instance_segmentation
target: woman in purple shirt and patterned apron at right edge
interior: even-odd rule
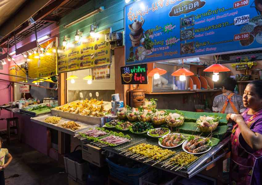
[[[231,184],[262,184],[262,81],[249,83],[244,91],[244,113],[227,114],[235,121],[231,134]]]

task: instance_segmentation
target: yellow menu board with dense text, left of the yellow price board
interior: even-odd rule
[[[40,46],[36,54],[28,56],[28,75],[30,78],[42,78],[56,75],[56,45],[57,38],[53,38]]]

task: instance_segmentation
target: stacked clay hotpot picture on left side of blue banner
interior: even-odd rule
[[[142,26],[144,22],[145,22],[145,19],[143,19],[142,21],[134,20],[132,24],[128,25],[129,30],[130,30],[129,37],[132,41],[133,47],[139,46],[140,40],[143,36]]]

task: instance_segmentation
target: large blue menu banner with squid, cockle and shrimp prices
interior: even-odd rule
[[[257,5],[261,4],[260,0],[131,3],[125,6],[125,64],[260,50],[262,6]]]

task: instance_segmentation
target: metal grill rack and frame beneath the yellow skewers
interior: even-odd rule
[[[168,171],[168,172],[174,173],[176,175],[180,175],[180,176],[187,177],[187,178],[193,177],[194,175],[196,175],[200,171],[204,170],[207,166],[211,165],[212,163],[214,163],[215,161],[217,161],[221,157],[223,157],[228,152],[227,150],[224,150],[223,148],[229,144],[229,140],[230,140],[230,138],[228,137],[228,138],[224,139],[222,142],[220,142],[217,146],[212,147],[212,149],[209,152],[202,154],[202,155],[195,155],[198,158],[194,162],[192,162],[189,165],[187,165],[186,167],[183,167],[183,168],[180,169],[179,166],[175,167],[175,166],[172,165],[168,168],[162,167],[162,166],[164,164],[166,164],[166,162],[169,161],[170,158],[174,157],[179,152],[184,151],[182,149],[182,146],[178,146],[176,148],[169,149],[169,150],[175,151],[176,153],[173,154],[172,156],[170,156],[169,158],[163,160],[163,161],[159,162],[158,160],[150,160],[150,161],[146,162],[148,160],[148,158],[137,159],[138,156],[136,157],[135,154],[126,156],[125,151],[129,147],[132,147],[132,146],[135,146],[135,145],[138,145],[138,144],[141,144],[141,143],[146,143],[146,144],[158,146],[158,140],[157,139],[142,138],[141,136],[134,135],[134,134],[129,134],[129,136],[132,138],[132,140],[130,142],[126,142],[126,143],[123,143],[121,145],[114,146],[114,147],[105,146],[105,147],[101,147],[101,148],[104,149],[104,150],[108,150],[110,152],[113,152],[115,154],[119,154],[121,156],[130,158],[132,160],[142,162],[142,163],[147,164],[147,165],[154,165],[154,167],[159,168],[161,170]],[[90,143],[90,141],[88,141],[88,140],[82,140],[82,142]],[[92,145],[92,143],[91,143],[91,145]],[[230,148],[230,147],[227,147],[227,148]],[[209,160],[209,162],[207,162],[208,160]]]

